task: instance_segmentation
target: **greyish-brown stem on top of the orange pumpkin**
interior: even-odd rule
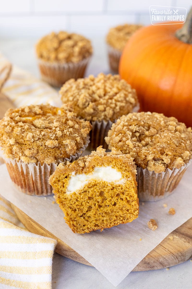
[[[192,7],[187,14],[183,27],[176,31],[175,36],[185,43],[192,43]]]

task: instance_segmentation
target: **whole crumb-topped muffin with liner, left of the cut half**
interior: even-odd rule
[[[0,146],[14,184],[26,194],[51,194],[48,178],[58,163],[81,155],[90,129],[67,106],[9,109],[0,121]]]

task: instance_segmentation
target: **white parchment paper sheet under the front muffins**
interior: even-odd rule
[[[140,204],[139,217],[132,223],[89,234],[74,234],[71,231],[59,206],[52,204],[52,195],[45,198],[18,192],[5,165],[0,166],[0,194],[77,251],[117,286],[170,232],[192,217],[191,177],[192,165],[172,195],[157,202]],[[164,203],[167,208],[164,208]],[[170,208],[175,208],[175,215],[168,214]],[[155,231],[147,226],[151,218],[158,223]]]

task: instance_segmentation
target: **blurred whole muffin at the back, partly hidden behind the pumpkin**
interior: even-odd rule
[[[109,65],[111,70],[115,73],[118,73],[119,60],[126,43],[141,27],[142,25],[124,24],[118,25],[109,30],[106,37]]]

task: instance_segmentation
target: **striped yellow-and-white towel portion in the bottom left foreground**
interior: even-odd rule
[[[0,197],[0,288],[51,289],[56,240],[28,232]]]

